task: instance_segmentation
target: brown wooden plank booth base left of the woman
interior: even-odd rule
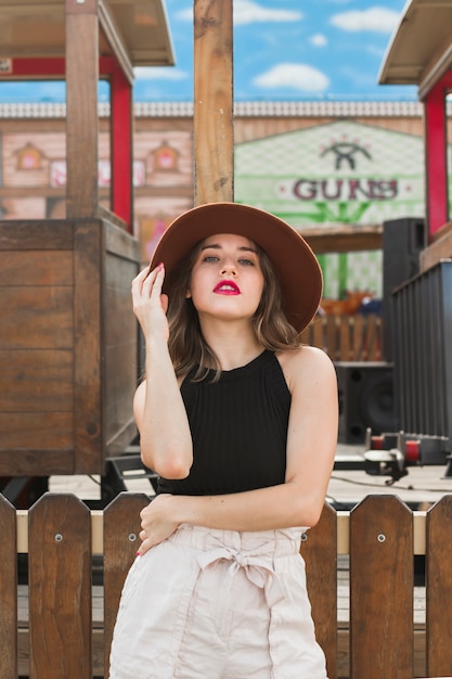
[[[106,219],[0,221],[0,476],[102,474],[135,436],[139,261]]]

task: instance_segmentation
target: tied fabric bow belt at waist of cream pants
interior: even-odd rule
[[[231,578],[240,568],[243,568],[248,580],[263,590],[269,607],[284,599],[283,588],[270,558],[264,559],[262,554],[243,554],[230,547],[218,547],[197,556],[197,562],[203,571],[221,560],[232,562],[228,569]]]

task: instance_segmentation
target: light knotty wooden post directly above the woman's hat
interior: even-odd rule
[[[233,201],[232,0],[194,0],[195,205]]]

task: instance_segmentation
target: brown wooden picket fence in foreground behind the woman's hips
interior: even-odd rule
[[[75,496],[47,494],[29,511],[16,511],[0,496],[0,679],[107,677],[120,590],[147,502],[124,492],[104,511],[91,511]],[[452,675],[451,535],[452,495],[427,512],[387,495],[367,496],[351,512],[325,504],[301,553],[330,679]],[[17,554],[28,555],[28,588],[18,590]],[[415,554],[426,559],[425,624],[413,623]],[[344,555],[349,622],[338,626]],[[98,585],[93,559],[102,559]]]

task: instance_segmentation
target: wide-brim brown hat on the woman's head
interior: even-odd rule
[[[151,261],[165,265],[163,292],[171,298],[175,274],[189,252],[217,233],[235,233],[254,241],[273,262],[281,283],[284,312],[301,332],[315,315],[322,296],[322,271],[304,238],[288,223],[240,203],[207,203],[177,217],[162,235]]]

